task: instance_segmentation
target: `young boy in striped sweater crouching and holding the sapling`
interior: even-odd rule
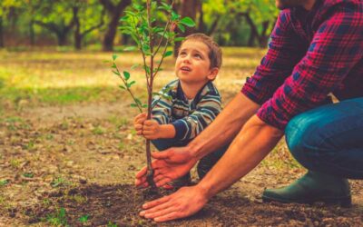
[[[175,63],[178,79],[162,89],[168,91],[172,100],[155,97],[152,101],[152,119],[146,121],[146,114],[134,118],[137,134],[152,140],[159,151],[191,142],[221,112],[221,95],[212,84],[220,68],[221,48],[211,37],[203,34],[187,36]],[[200,178],[224,151],[201,160],[198,164]],[[187,174],[173,182],[172,186],[179,187],[189,181],[190,174]]]

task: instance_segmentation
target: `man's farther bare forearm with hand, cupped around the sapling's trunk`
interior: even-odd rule
[[[186,147],[174,147],[162,153],[152,153],[155,158],[152,168],[154,180],[162,186],[188,173],[192,166],[204,155],[230,143],[240,132],[241,127],[257,112],[260,105],[255,104],[244,94],[237,94],[230,104],[217,116],[201,134]],[[136,186],[147,186],[147,168],[136,175]]]

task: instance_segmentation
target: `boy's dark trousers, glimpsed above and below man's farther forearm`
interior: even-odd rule
[[[152,140],[152,144],[161,152],[171,147],[186,146],[189,142],[191,141],[180,142],[174,139]],[[229,145],[230,144],[223,146],[221,147],[221,149],[213,153],[209,153],[199,161],[197,166],[197,173],[200,179],[203,178],[211,170],[213,165],[221,159],[221,156],[227,151]]]

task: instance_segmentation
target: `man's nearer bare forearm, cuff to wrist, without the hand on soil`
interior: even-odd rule
[[[198,187],[205,192],[207,198],[228,188],[250,173],[270,153],[282,135],[283,132],[279,129],[263,123],[256,115],[253,116]]]

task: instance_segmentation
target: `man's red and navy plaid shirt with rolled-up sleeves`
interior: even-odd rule
[[[363,1],[318,1],[282,10],[268,53],[242,94],[261,104],[257,115],[283,130],[296,114],[363,96]]]

